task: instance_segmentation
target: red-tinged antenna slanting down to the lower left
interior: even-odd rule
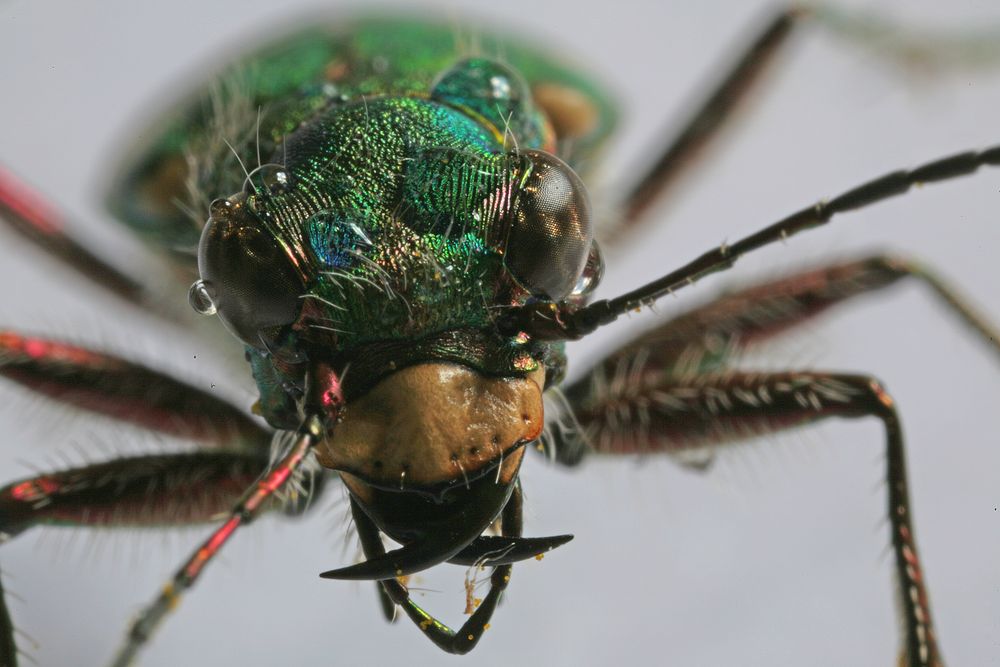
[[[250,524],[267,502],[285,488],[324,433],[320,419],[311,417],[297,433],[292,434],[274,467],[244,492],[233,506],[229,518],[191,554],[160,594],[139,614],[112,665],[126,667],[132,663],[167,613],[177,606],[181,595],[194,586],[205,566],[218,554],[237,528]]]

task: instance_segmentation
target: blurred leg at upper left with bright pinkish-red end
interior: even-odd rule
[[[38,193],[0,167],[0,220],[47,254],[116,296],[142,305],[144,290],[69,235],[66,220]]]

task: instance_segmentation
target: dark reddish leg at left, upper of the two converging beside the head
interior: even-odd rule
[[[87,348],[0,330],[0,376],[151,431],[269,450],[270,430],[235,406],[159,371]]]

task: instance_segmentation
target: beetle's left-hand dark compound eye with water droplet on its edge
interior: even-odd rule
[[[198,312],[217,312],[244,343],[264,349],[262,336],[298,318],[302,279],[279,240],[244,206],[219,199],[211,214],[198,246],[201,280],[189,299]]]

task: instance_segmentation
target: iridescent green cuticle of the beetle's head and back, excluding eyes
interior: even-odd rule
[[[175,114],[124,179],[138,194],[114,205],[154,243],[195,247],[208,202],[242,192],[241,215],[295,267],[297,319],[249,340],[274,426],[294,426],[302,370],[288,360],[304,350],[352,363],[375,355],[371,381],[421,359],[563,373],[561,344],[482,332],[532,298],[504,256],[504,221],[532,168],[520,151],[556,149],[532,86],[573,88],[603,112],[592,135],[574,138],[571,164],[586,162],[613,114],[546,56],[483,35],[478,52],[456,57],[452,37],[447,26],[369,19],[279,42]]]

